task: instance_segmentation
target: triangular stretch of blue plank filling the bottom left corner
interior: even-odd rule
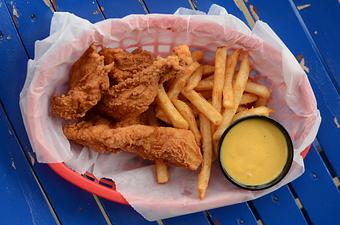
[[[56,224],[2,106],[0,145],[0,223]]]

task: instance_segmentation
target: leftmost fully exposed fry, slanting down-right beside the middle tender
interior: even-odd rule
[[[175,106],[167,96],[163,85],[158,88],[158,102],[165,115],[171,121],[171,124],[176,128],[188,129],[188,122],[182,117],[182,115],[176,110]]]

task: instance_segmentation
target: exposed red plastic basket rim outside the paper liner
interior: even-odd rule
[[[308,146],[301,156],[306,157],[311,146]],[[129,203],[124,197],[116,191],[116,186],[112,180],[100,179],[98,180],[91,173],[81,175],[68,168],[64,163],[49,163],[49,167],[56,172],[59,176],[63,177],[68,182],[88,191],[92,194],[98,195],[102,198],[108,199],[113,202],[128,205]]]

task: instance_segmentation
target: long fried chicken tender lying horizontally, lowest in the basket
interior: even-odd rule
[[[63,130],[69,140],[98,152],[126,151],[191,170],[202,162],[200,148],[189,130],[145,125],[113,128],[108,121],[83,121],[65,125]]]

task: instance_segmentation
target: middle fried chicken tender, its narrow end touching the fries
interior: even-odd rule
[[[97,109],[116,120],[137,117],[157,96],[158,85],[173,78],[182,68],[177,56],[158,57],[150,66],[109,88]]]

